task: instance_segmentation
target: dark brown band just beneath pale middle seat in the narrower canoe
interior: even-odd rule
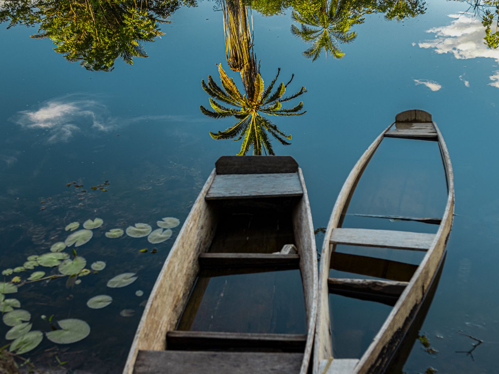
[[[347,273],[409,282],[414,272],[418,269],[418,265],[385,260],[383,258],[333,252],[331,257],[331,268]]]

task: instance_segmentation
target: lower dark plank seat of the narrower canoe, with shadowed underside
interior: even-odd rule
[[[329,293],[394,306],[409,282],[328,278]]]

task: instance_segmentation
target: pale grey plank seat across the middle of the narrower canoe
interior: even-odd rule
[[[435,234],[424,232],[335,228],[331,235],[331,244],[426,251],[434,238]]]

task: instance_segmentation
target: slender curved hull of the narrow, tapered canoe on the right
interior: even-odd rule
[[[383,131],[364,152],[352,169],[338,195],[329,219],[322,245],[319,271],[319,301],[313,358],[314,374],[383,373],[386,366],[389,364],[388,361],[392,357],[393,352],[405,336],[420,309],[443,258],[454,217],[454,181],[447,146],[442,138],[440,130],[435,122],[432,121],[431,115],[427,112],[412,110],[399,113],[394,124],[396,124],[396,129],[392,129],[393,124],[385,129],[385,131]],[[426,236],[413,235],[414,237],[407,238],[402,235],[405,234],[405,232],[394,231],[394,235],[387,238],[383,233],[376,233],[375,235],[374,233],[369,232],[371,230],[361,229],[359,229],[358,234],[361,234],[361,236],[363,235],[363,237],[342,239],[343,241],[350,240],[349,243],[353,244],[382,247],[385,246],[383,245],[383,242],[388,240],[390,243],[386,245],[387,247],[426,250],[426,255],[417,269],[414,269],[414,265],[395,261],[382,259],[372,260],[372,262],[375,263],[375,266],[372,266],[372,268],[368,269],[367,273],[364,274],[398,281],[408,281],[408,283],[398,297],[398,300],[385,320],[385,323],[374,337],[373,342],[361,359],[335,360],[332,355],[329,317],[330,286],[328,284],[330,282],[328,282],[328,276],[330,268],[338,268],[335,267],[335,260],[332,258],[332,253],[335,245],[342,243],[342,241],[334,241],[334,238],[337,236],[345,237],[344,231],[349,230],[340,228],[348,204],[363,171],[385,137],[438,141],[447,179],[447,204],[444,215],[440,221],[440,227],[431,240],[428,240],[428,234],[425,234]],[[409,234],[412,235],[413,233],[407,234],[408,235],[406,236],[410,236]],[[400,238],[398,237],[399,235],[401,236]],[[343,255],[343,258],[341,258],[341,256],[339,258],[340,267],[344,265],[344,257],[347,256],[351,256],[352,258],[358,257],[359,262],[363,264],[363,266],[369,265],[368,257]],[[350,261],[352,259],[346,260]],[[414,273],[412,273],[413,271]]]

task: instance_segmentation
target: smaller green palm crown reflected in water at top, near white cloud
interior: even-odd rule
[[[292,12],[291,18],[295,22],[301,23],[301,28],[291,25],[291,33],[300,37],[305,42],[312,42],[310,48],[303,52],[307,58],[315,61],[324,49],[334,58],[342,58],[343,53],[339,43],[349,43],[355,39],[357,33],[350,31],[354,24],[364,22],[362,14],[355,9],[351,9],[345,0],[322,0],[321,11],[319,13],[311,12]]]

